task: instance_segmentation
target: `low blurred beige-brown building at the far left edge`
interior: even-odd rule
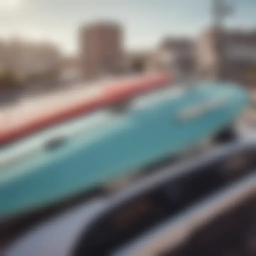
[[[50,43],[32,43],[12,39],[0,43],[1,73],[11,73],[21,80],[53,78],[57,75],[60,52]]]

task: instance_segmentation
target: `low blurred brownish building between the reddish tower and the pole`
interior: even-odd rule
[[[192,39],[165,38],[148,59],[149,70],[170,70],[174,73],[191,74],[195,65],[195,48]]]

